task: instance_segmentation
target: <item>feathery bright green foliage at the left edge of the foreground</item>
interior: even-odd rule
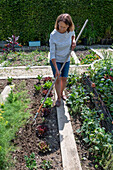
[[[18,87],[20,92],[9,94],[5,104],[0,108],[0,169],[6,170],[11,166],[10,152],[14,150],[11,140],[16,137],[16,132],[30,117],[28,108],[30,100],[27,91]]]

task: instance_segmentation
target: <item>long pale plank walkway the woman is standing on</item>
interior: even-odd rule
[[[55,98],[56,92],[55,92]],[[66,103],[57,107],[63,170],[82,170]]]

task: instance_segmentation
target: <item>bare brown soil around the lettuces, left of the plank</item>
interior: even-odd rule
[[[42,90],[37,93],[34,88],[34,84],[37,85],[37,82],[37,79],[13,80],[16,89],[18,89],[18,85],[20,86],[21,84],[21,87],[23,86],[23,88],[28,90],[31,100],[29,109],[31,110],[33,117],[35,116],[43,97]],[[0,80],[0,84],[3,89],[2,85],[5,86],[7,80]],[[42,117],[41,114],[42,111],[36,119],[35,126],[32,126],[32,121],[28,122],[19,129],[15,135],[15,139],[12,139],[11,141],[11,145],[16,146],[16,150],[11,152],[14,163],[13,169],[15,170],[27,169],[25,156],[30,158],[33,153],[35,154],[34,160],[37,162],[38,169],[42,169],[41,164],[44,160],[51,162],[52,169],[62,169],[56,108],[51,107],[50,114],[47,117]],[[39,137],[36,135],[36,127],[43,123],[47,126],[48,130],[44,137]],[[41,141],[46,141],[49,144],[51,151],[48,151],[47,153],[39,152],[38,144]]]

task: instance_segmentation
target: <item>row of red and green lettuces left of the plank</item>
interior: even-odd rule
[[[34,85],[36,93],[39,94],[40,92],[42,93],[43,98],[41,99],[41,103],[43,102],[45,96],[48,93],[48,90],[50,89],[52,85],[52,78],[51,77],[45,77],[42,78],[42,76],[38,75],[37,77],[38,83]],[[43,85],[42,85],[43,82]],[[47,132],[49,131],[48,126],[46,125],[46,119],[51,114],[51,107],[53,104],[53,93],[52,91],[49,93],[41,111],[39,114],[41,114],[42,117],[42,123],[36,125],[36,136],[40,139],[40,142],[38,143],[38,149],[39,149],[39,154],[47,154],[51,151],[49,143],[46,142],[45,138],[46,135],[48,134]],[[37,118],[38,119],[38,118]],[[52,162],[43,160],[42,162],[42,168],[45,169],[50,169],[52,168]]]

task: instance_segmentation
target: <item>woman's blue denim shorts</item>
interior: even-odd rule
[[[63,63],[56,62],[56,64],[57,64],[58,70],[60,71]],[[50,65],[53,71],[53,75],[55,77],[56,70],[51,60],[50,60]],[[64,68],[61,71],[60,77],[68,77],[69,65],[70,65],[70,61],[65,63]]]

